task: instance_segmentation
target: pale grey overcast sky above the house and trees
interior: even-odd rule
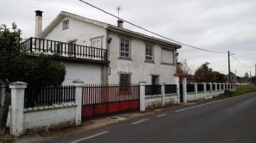
[[[165,37],[212,53],[183,46],[179,59],[198,67],[210,62],[215,71],[228,74],[228,51],[246,64],[246,67],[230,56],[231,71],[238,76],[252,71],[256,64],[256,1],[255,0],[85,0],[117,16],[116,6],[121,5],[120,18],[140,25]],[[102,13],[78,0],[1,0],[0,24],[9,27],[15,22],[22,30],[23,38],[34,37],[35,13],[43,11],[43,29],[60,11],[75,13],[86,18],[117,25],[117,19]],[[146,35],[151,33],[124,23],[124,28]]]

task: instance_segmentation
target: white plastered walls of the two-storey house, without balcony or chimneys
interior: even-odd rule
[[[65,21],[69,25],[66,28],[65,23],[63,29]],[[181,45],[66,12],[60,12],[39,38],[61,42],[75,41],[76,45],[93,45],[107,50],[110,61],[108,65],[65,63],[65,85],[77,77],[85,80],[85,84],[120,84],[121,74],[129,74],[129,84],[138,84],[139,81],[146,81],[146,84],[175,84],[175,55],[176,49],[181,48]],[[120,56],[121,38],[129,40],[128,59]],[[152,47],[151,62],[146,61],[146,45]]]

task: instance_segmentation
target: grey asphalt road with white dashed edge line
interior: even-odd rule
[[[256,93],[146,115],[48,142],[256,142]]]

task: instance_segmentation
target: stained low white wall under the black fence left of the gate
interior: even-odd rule
[[[23,130],[56,130],[75,126],[75,103],[24,109]]]

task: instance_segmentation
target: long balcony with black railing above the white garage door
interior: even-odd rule
[[[57,54],[65,59],[82,59],[91,62],[107,62],[107,50],[67,42],[29,38],[21,43],[26,53]]]

